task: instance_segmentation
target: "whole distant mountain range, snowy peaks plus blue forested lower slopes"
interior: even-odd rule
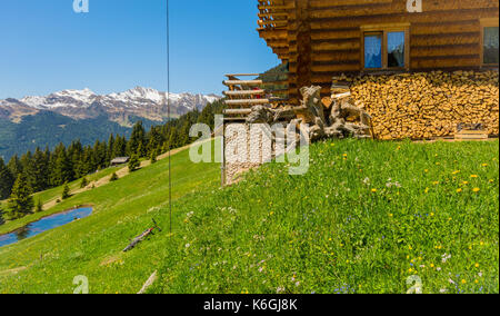
[[[168,98],[169,97],[169,98]],[[136,87],[124,92],[97,95],[89,89],[63,90],[48,96],[0,100],[0,157],[80,139],[91,145],[110,134],[128,136],[134,122],[146,128],[219,100],[216,95],[169,93]]]

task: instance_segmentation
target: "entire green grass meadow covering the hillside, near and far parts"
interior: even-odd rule
[[[152,293],[406,293],[412,275],[424,293],[499,292],[498,141],[321,142],[304,176],[269,164],[226,189],[187,155],[173,236],[120,251],[151,217],[168,228],[163,160],[57,206],[92,216],[0,248],[0,293],[71,293],[78,275],[137,293],[157,269]]]

